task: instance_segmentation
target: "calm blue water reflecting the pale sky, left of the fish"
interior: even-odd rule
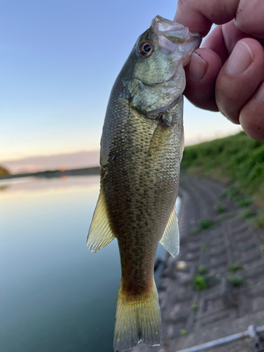
[[[117,241],[85,246],[98,195],[97,176],[0,183],[1,352],[113,351]]]

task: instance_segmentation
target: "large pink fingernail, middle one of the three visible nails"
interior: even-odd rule
[[[253,54],[249,45],[243,41],[238,42],[227,61],[227,71],[232,75],[240,75],[249,67],[252,61]]]

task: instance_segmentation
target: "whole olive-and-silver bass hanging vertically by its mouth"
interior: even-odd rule
[[[100,194],[87,237],[97,252],[118,239],[121,282],[114,351],[161,343],[153,267],[158,242],[179,252],[175,202],[184,148],[184,66],[201,35],[157,15],[123,65],[106,109]]]

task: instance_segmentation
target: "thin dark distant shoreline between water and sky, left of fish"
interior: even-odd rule
[[[61,176],[82,176],[82,175],[99,175],[100,166],[95,166],[94,168],[81,168],[73,170],[47,170],[41,172],[30,172],[25,174],[15,174],[0,177],[1,180],[8,180],[19,177],[42,177],[42,178],[51,178],[51,177],[61,177]]]

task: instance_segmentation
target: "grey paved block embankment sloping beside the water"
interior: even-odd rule
[[[224,190],[220,182],[181,175],[180,254],[168,256],[158,287],[163,342],[152,348],[139,344],[134,352],[180,351],[243,332],[249,325],[264,325],[264,256],[260,252],[264,233],[244,219],[244,208],[237,208],[230,199],[218,199]],[[227,208],[221,214],[219,203]],[[199,232],[204,219],[214,225]],[[179,262],[184,262],[185,268]],[[232,264],[243,269],[229,272]],[[208,270],[210,289],[196,291],[193,278],[201,265]],[[234,287],[227,275],[239,275],[244,283]],[[191,309],[193,305],[196,311]],[[182,337],[181,330],[188,335]],[[207,351],[249,352],[254,348],[250,339],[243,339]]]

